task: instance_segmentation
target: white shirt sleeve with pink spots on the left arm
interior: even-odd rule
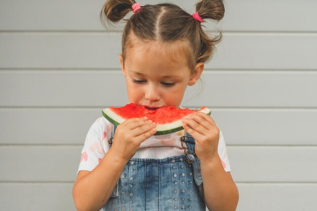
[[[82,150],[80,171],[91,172],[109,150],[108,139],[111,138],[112,124],[104,117],[98,118],[90,127]]]

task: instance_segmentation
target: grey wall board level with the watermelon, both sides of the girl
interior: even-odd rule
[[[102,116],[101,110],[0,108],[0,144],[81,145],[92,123]],[[211,110],[227,145],[317,146],[316,109]]]

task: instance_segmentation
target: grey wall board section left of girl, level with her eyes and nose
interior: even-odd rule
[[[122,105],[128,102],[124,87],[125,78],[119,70],[0,71],[0,105]]]

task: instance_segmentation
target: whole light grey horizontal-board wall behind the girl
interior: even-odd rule
[[[196,1],[173,2],[194,12]],[[103,3],[0,0],[0,210],[75,210],[86,133],[101,109],[127,102],[121,26],[104,31]],[[239,211],[316,210],[316,9],[227,0],[224,20],[204,24],[223,41],[183,106],[212,109]]]

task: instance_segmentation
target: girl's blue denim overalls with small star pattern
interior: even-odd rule
[[[115,129],[114,125],[112,138]],[[189,154],[194,154],[194,139],[187,133],[182,138]],[[205,211],[206,205],[198,188],[202,190],[202,182],[196,155],[191,164],[186,162],[186,154],[162,159],[131,158],[103,210]]]

